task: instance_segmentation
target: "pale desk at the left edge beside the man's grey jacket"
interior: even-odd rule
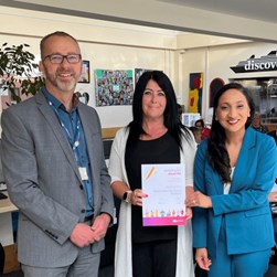
[[[8,192],[3,192],[8,196]],[[14,244],[11,212],[17,211],[10,199],[0,200],[0,242],[2,246]]]

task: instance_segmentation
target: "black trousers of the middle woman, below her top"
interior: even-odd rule
[[[175,277],[177,241],[132,244],[134,277]]]

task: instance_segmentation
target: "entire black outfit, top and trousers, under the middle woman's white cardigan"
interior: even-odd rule
[[[130,189],[134,191],[141,189],[141,164],[180,163],[180,149],[169,132],[153,140],[127,142],[125,163]],[[175,275],[177,232],[177,226],[143,227],[142,207],[131,206],[134,277]],[[158,247],[161,248],[157,251]],[[152,254],[148,256],[149,252]],[[152,262],[150,262],[151,258]],[[157,259],[159,259],[158,263],[156,263]]]

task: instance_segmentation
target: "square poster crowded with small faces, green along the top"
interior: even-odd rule
[[[132,71],[95,71],[96,106],[131,105],[134,97]]]

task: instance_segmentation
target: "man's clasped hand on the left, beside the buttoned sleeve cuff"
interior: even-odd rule
[[[90,226],[78,223],[71,233],[70,239],[78,247],[88,246],[95,242]]]

